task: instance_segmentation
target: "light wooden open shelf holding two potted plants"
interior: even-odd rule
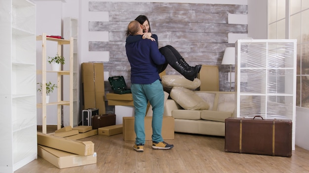
[[[69,106],[69,112],[68,114],[64,114],[63,116],[69,117],[69,125],[73,127],[73,49],[74,49],[74,40],[73,37],[70,38],[70,40],[65,39],[58,39],[58,38],[51,38],[46,37],[46,33],[42,33],[42,35],[37,36],[37,41],[41,41],[42,44],[42,70],[39,70],[37,72],[38,75],[41,75],[42,78],[42,93],[46,93],[46,82],[49,82],[47,80],[47,73],[56,73],[57,75],[57,86],[58,86],[58,93],[57,93],[57,101],[56,102],[50,102],[46,103],[46,94],[42,94],[42,103],[37,104],[38,108],[42,109],[42,133],[46,133],[46,119],[47,116],[54,115],[50,112],[48,112],[49,115],[47,115],[47,106],[56,105],[57,106],[57,129],[61,128],[61,107],[62,106]],[[69,63],[69,69],[62,70],[62,71],[47,71],[47,56],[46,56],[46,49],[48,49],[48,43],[47,42],[55,42],[57,43],[57,54],[59,56],[62,56],[62,47],[65,45],[68,45],[69,48],[65,49],[66,51],[69,51],[69,57],[66,58],[65,63]],[[63,91],[62,89],[62,76],[68,76],[67,79],[69,81],[69,89]],[[62,96],[63,93],[69,93],[69,97],[67,100],[63,100]]]

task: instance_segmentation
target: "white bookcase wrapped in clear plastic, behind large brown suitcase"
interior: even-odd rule
[[[237,117],[292,120],[295,150],[297,40],[237,40],[235,98]]]

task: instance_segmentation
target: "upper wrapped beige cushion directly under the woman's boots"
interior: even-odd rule
[[[161,79],[162,86],[168,90],[172,87],[185,87],[194,90],[200,86],[199,79],[195,78],[194,81],[190,81],[182,75],[164,75]]]

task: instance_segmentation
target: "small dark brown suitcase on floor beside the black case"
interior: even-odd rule
[[[116,125],[116,115],[115,114],[93,115],[91,117],[91,122],[92,122],[92,129],[98,129],[100,127]]]

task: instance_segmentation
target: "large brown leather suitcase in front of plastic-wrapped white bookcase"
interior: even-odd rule
[[[225,152],[292,156],[292,121],[229,117],[225,120]]]

